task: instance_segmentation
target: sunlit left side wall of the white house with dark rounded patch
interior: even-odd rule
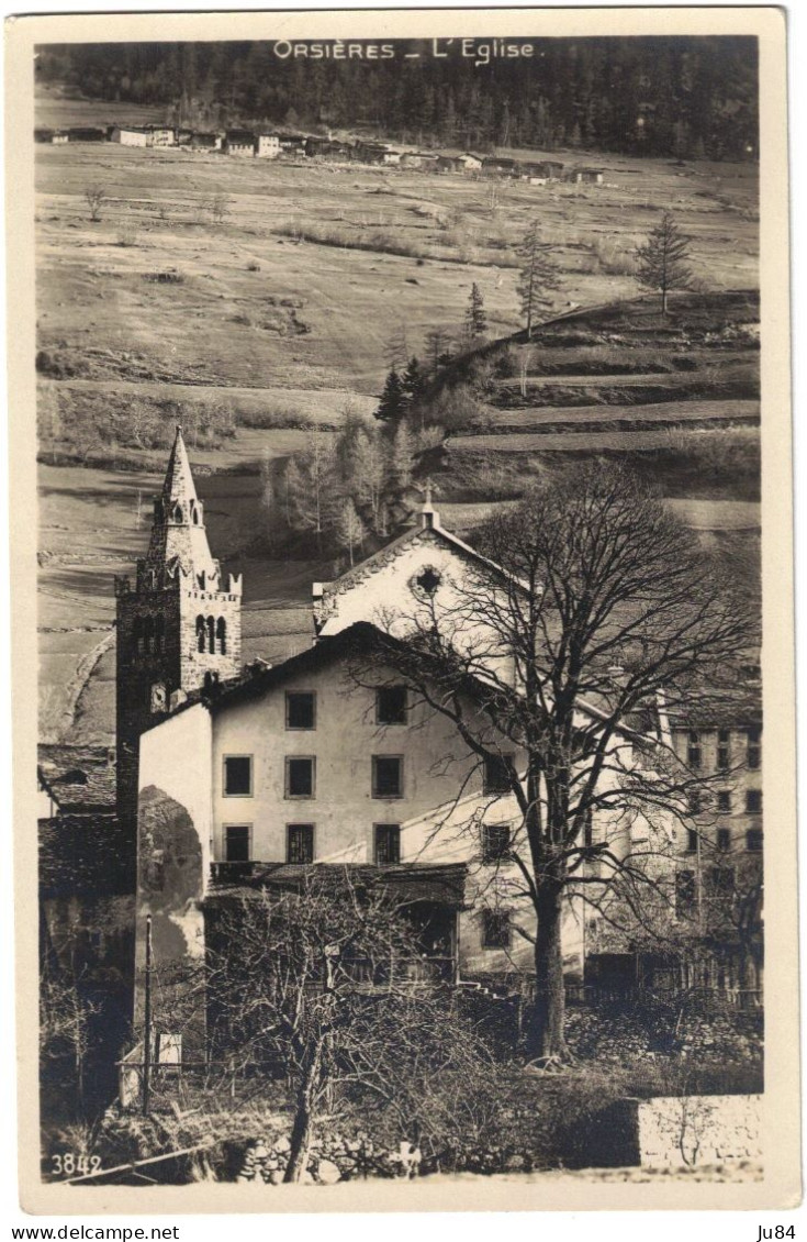
[[[140,738],[135,1036],[142,1033],[147,915],[151,915],[153,1021],[204,1041],[197,974],[204,964],[201,903],[210,872],[211,727],[196,704]]]

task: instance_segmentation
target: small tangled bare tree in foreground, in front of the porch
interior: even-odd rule
[[[389,1110],[415,1141],[484,1124],[495,1067],[449,992],[423,987],[427,965],[390,888],[382,879],[359,888],[349,868],[310,867],[286,891],[256,889],[217,909],[212,1045],[231,1061],[274,1061],[287,1073],[286,1181],[302,1179],[317,1119],[339,1093]]]

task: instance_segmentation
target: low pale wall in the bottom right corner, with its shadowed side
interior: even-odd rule
[[[761,1095],[659,1095],[603,1109],[585,1141],[591,1167],[647,1169],[760,1161]]]

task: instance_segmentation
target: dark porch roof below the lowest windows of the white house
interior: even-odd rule
[[[215,868],[214,881],[207,893],[207,900],[227,900],[232,898],[257,898],[267,889],[293,891],[299,887],[303,877],[312,871],[322,871],[334,878],[344,872],[350,882],[359,888],[384,888],[397,902],[413,904],[416,902],[437,902],[441,905],[461,907],[466,900],[466,863],[399,863],[391,867],[371,867],[366,863],[314,863],[312,867],[292,863],[253,863],[251,872],[235,869],[231,878],[226,874],[227,864]]]

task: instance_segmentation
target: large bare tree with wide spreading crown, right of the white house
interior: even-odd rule
[[[560,476],[490,519],[480,550],[503,573],[468,570],[451,592],[413,601],[372,660],[452,722],[516,807],[508,857],[534,914],[521,929],[534,946],[531,1046],[564,1058],[565,898],[612,918],[618,891],[641,918],[644,894],[663,891],[670,822],[690,823],[693,791],[708,796],[716,779],[678,759],[664,705],[725,703],[754,625],[690,533],[621,468]],[[354,678],[366,671],[358,657]],[[632,831],[639,822],[647,832]],[[476,816],[467,831],[478,833]]]

